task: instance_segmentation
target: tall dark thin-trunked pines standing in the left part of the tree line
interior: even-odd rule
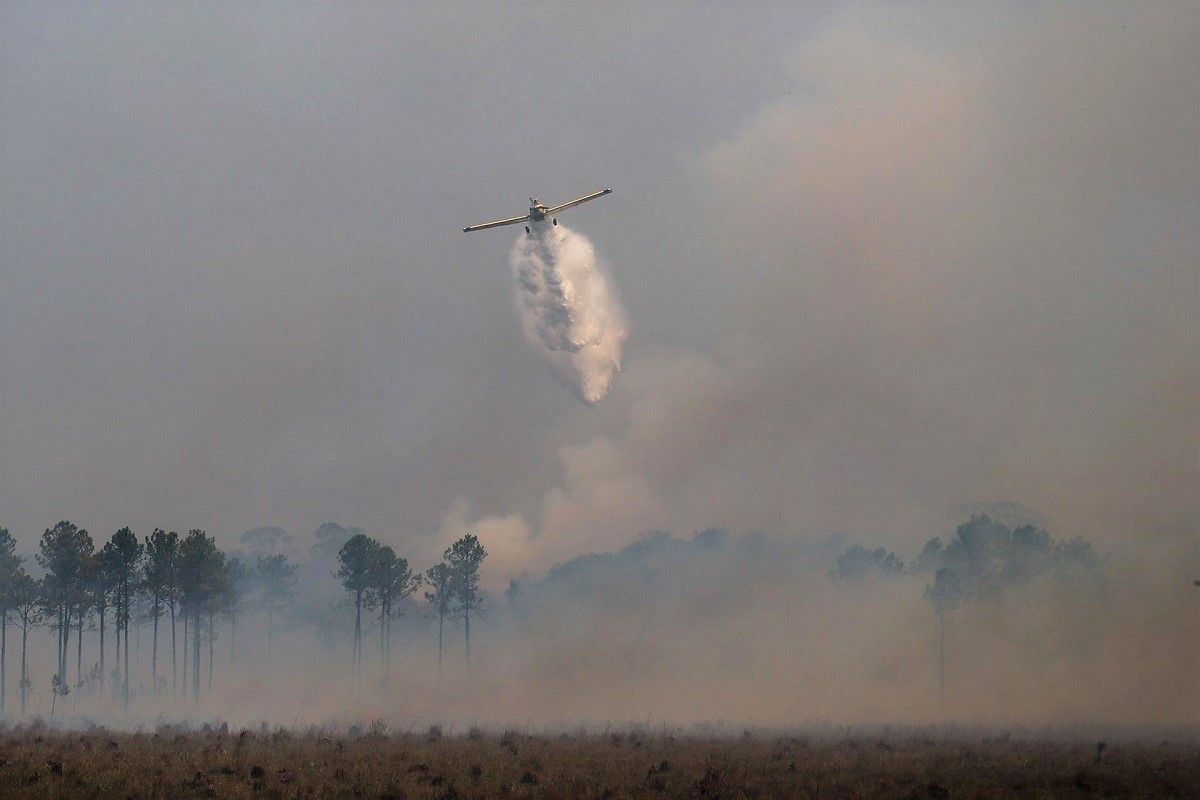
[[[391,547],[365,533],[355,533],[341,545],[332,572],[354,608],[350,667],[360,685],[364,615],[378,614],[379,662],[388,686],[391,621],[404,601],[422,587],[427,588],[424,596],[438,620],[439,675],[444,628],[451,615],[462,620],[469,668],[470,621],[481,606],[479,579],[486,555],[479,539],[467,534],[445,549],[443,561],[419,572]],[[212,691],[218,625],[228,627],[233,668],[238,660],[239,621],[247,613],[262,614],[270,667],[277,620],[296,597],[298,565],[286,554],[258,554],[253,560],[230,555],[198,529],[185,535],[155,529],[139,540],[130,528],[121,528],[97,547],[85,529],[62,521],[42,534],[34,561],[41,570],[37,578],[26,569],[25,557],[17,553],[13,536],[0,528],[0,712],[7,708],[10,626],[20,639],[22,714],[34,686],[29,637],[37,628],[53,631],[56,643],[50,676],[52,715],[54,703],[72,691],[77,696],[110,692],[127,708],[133,691],[131,621],[149,621],[151,626],[152,692],[169,692],[173,698],[191,692],[198,703],[203,692]],[[86,668],[85,634],[96,645],[95,661]],[[166,642],[160,639],[168,637],[169,674],[160,664],[160,650],[163,660],[167,656]]]

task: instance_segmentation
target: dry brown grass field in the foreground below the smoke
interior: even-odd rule
[[[0,798],[1200,798],[1200,744],[35,726]]]

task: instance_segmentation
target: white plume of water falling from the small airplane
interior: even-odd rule
[[[526,338],[584,403],[604,399],[629,335],[625,309],[582,234],[536,224],[509,259]]]

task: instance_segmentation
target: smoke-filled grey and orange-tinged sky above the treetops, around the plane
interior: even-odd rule
[[[1000,500],[1194,537],[1198,40],[1183,2],[6,4],[0,524],[475,527],[497,579]],[[604,186],[564,222],[631,333],[588,408],[511,229],[460,229]]]

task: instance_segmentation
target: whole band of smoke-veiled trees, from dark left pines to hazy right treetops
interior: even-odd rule
[[[0,528],[0,711],[12,705],[8,690],[14,673],[22,715],[35,676],[38,688],[52,693],[52,717],[55,705],[72,694],[73,700],[83,697],[109,708],[128,708],[139,693],[164,703],[198,704],[212,691],[215,670],[226,663],[238,669],[247,646],[239,642],[239,625],[251,615],[265,632],[253,648],[268,669],[281,622],[314,626],[328,642],[335,640],[332,632],[341,626],[349,643],[349,675],[360,686],[364,639],[374,636],[379,687],[388,691],[392,621],[424,604],[425,615],[436,621],[438,674],[448,622],[462,632],[469,668],[472,624],[484,606],[480,575],[487,557],[474,534],[455,541],[438,564],[425,570],[414,569],[361,529],[335,523],[317,529],[306,558],[296,558],[290,534],[281,528],[248,530],[240,543],[246,549],[223,552],[203,530],[179,535],[156,529],[139,540],[122,528],[97,546],[91,534],[64,521],[42,534],[36,553],[28,558],[17,553],[14,539]],[[672,579],[691,579],[688,565],[704,559],[721,559],[744,575],[762,561],[823,564],[834,587],[847,589],[917,582],[938,622],[943,694],[948,613],[1036,579],[1104,579],[1103,559],[1084,540],[1057,541],[1036,525],[1009,527],[973,515],[947,541],[930,539],[911,564],[883,547],[847,547],[845,537],[756,533],[731,537],[724,528],[710,528],[688,540],[653,531],[616,553],[571,559],[536,581],[511,581],[503,599],[494,600],[517,616],[536,608],[565,618],[572,613],[569,601],[586,606],[605,587],[620,585],[622,599],[636,606],[671,591]],[[787,575],[803,579],[799,571]],[[340,596],[332,596],[334,585]],[[149,627],[149,646],[134,648],[132,660],[131,625],[137,632]],[[30,633],[38,630],[54,637],[53,663],[30,663]],[[222,666],[216,658],[218,639]],[[150,686],[134,684],[131,675],[145,675],[146,667]]]

